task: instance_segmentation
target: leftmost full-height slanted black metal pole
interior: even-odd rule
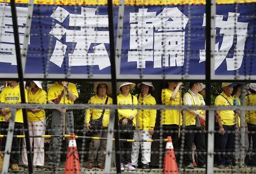
[[[17,69],[18,69],[18,77],[19,77],[20,97],[21,97],[22,103],[26,103],[15,0],[11,0],[11,18],[13,19],[13,31],[14,31],[15,51],[16,51]],[[30,147],[30,134],[28,133],[28,123],[27,123],[27,109],[22,109],[22,114],[23,114],[23,122],[24,122],[24,129],[25,129],[25,135],[26,135],[28,172],[33,173],[32,154],[31,154],[31,147]]]

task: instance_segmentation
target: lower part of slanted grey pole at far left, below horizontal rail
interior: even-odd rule
[[[9,119],[9,125],[8,125],[8,133],[6,138],[5,157],[3,159],[2,173],[9,173],[8,169],[10,164],[11,145],[13,144],[15,116],[16,116],[16,109],[11,109],[11,117]]]

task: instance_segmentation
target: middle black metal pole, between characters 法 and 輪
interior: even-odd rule
[[[114,47],[114,22],[113,22],[113,6],[112,0],[108,0],[108,15],[109,15],[109,46],[110,46],[110,63],[111,63],[111,77],[112,77],[112,94],[113,104],[117,104],[117,76],[115,72],[115,47]],[[119,131],[118,131],[118,114],[115,110],[115,168],[117,173],[121,173],[120,168],[120,146],[119,146]]]

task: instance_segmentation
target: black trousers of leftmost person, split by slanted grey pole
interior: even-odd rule
[[[1,134],[7,135],[9,122],[0,122]],[[23,123],[15,122],[13,135],[22,135]],[[2,150],[5,151],[6,138],[2,140]],[[19,164],[19,154],[20,154],[20,139],[13,137],[13,144],[11,146],[10,164]]]

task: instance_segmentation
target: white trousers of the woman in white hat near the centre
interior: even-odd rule
[[[133,139],[135,140],[147,140],[151,139],[152,135],[148,133],[148,130],[135,130]],[[141,145],[142,151],[142,163],[150,163],[151,157],[151,142],[133,142],[133,150],[131,152],[131,164],[138,166],[139,158],[139,145]]]

